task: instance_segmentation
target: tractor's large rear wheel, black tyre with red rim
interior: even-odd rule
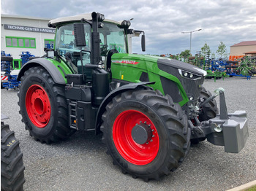
[[[48,71],[41,66],[25,71],[19,89],[22,122],[34,139],[50,144],[67,139],[74,132],[68,126],[64,86],[56,84]]]

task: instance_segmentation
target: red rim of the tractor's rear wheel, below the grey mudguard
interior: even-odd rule
[[[26,93],[26,111],[37,128],[45,128],[50,120],[50,100],[39,85],[31,85]]]

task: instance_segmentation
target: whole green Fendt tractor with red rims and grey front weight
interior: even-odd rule
[[[50,144],[76,130],[102,132],[113,163],[144,181],[176,170],[191,142],[207,139],[239,152],[249,136],[246,112],[227,114],[224,90],[211,95],[202,69],[129,54],[133,33],[141,34],[145,51],[144,31],[130,24],[96,12],[50,20],[54,48],[18,74],[18,104],[30,135]]]

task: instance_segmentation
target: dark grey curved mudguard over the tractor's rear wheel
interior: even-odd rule
[[[54,66],[53,63],[51,63],[50,61],[48,61],[45,58],[35,58],[35,59],[27,62],[20,69],[17,80],[20,81],[20,78],[24,75],[24,72],[26,70],[28,70],[29,68],[34,67],[34,66],[44,67],[49,72],[49,74],[53,78],[54,82],[56,82],[57,84],[61,84],[61,85],[66,84],[66,82],[65,82],[61,72],[59,71],[59,69],[56,68],[56,66]]]

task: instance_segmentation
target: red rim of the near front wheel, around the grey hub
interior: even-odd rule
[[[132,128],[146,122],[151,128],[151,141],[138,144],[132,139]],[[147,165],[157,156],[159,150],[159,136],[153,122],[136,110],[121,112],[113,125],[113,141],[116,149],[125,160],[135,165]]]

